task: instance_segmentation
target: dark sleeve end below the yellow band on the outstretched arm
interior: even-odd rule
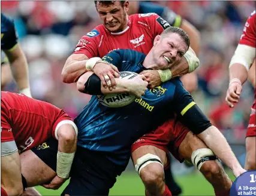
[[[212,125],[196,104],[183,114],[182,121],[194,134],[200,134]]]

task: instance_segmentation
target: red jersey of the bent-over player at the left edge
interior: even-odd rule
[[[28,150],[55,137],[56,125],[71,118],[56,106],[24,94],[1,91],[1,142]]]

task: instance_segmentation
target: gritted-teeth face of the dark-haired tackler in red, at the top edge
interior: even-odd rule
[[[127,27],[128,8],[129,2],[125,2],[124,6],[121,5],[120,1],[115,1],[109,5],[97,3],[97,11],[104,26],[113,33],[121,32]]]

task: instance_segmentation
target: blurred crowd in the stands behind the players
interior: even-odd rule
[[[244,142],[253,87],[243,86],[234,109],[225,104],[228,65],[254,1],[155,1],[194,24],[201,33],[198,89],[201,109],[230,140]],[[93,1],[1,1],[2,13],[14,19],[29,63],[32,96],[64,108],[76,117],[90,96],[64,84],[61,71],[79,39],[101,24]],[[105,43],[107,44],[107,43]],[[11,82],[5,90],[16,91]],[[230,131],[227,131],[230,130]]]

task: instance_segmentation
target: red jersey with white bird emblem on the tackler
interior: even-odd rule
[[[147,54],[153,47],[153,39],[169,27],[167,21],[155,13],[133,14],[128,17],[128,27],[119,33],[111,33],[103,24],[83,36],[74,54],[85,54],[89,59],[103,57],[113,50],[132,49]]]

